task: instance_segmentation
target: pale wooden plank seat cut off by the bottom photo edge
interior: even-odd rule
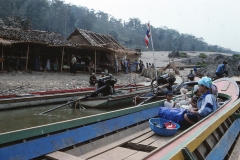
[[[59,151],[47,154],[46,157],[52,160],[83,160],[82,158],[75,157],[71,154],[67,154]]]

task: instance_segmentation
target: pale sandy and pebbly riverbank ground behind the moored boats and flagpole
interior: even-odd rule
[[[165,67],[169,63],[168,53],[170,51],[165,52],[155,52],[156,64],[157,67]],[[192,56],[198,56],[199,53],[203,52],[195,52],[187,54]],[[216,52],[204,52],[205,54],[215,54]],[[226,54],[229,55],[229,54]],[[231,56],[231,55],[230,55]],[[146,62],[153,63],[152,52],[143,52],[141,60],[143,60],[144,64]],[[178,61],[179,58],[171,59],[171,61]],[[180,73],[183,76],[186,76],[189,73],[190,69],[181,70]],[[97,75],[97,78],[100,75]],[[118,79],[117,84],[129,84],[132,82],[145,82],[147,78],[140,77],[138,74],[123,74],[122,72],[118,73],[118,75],[113,74],[114,77]],[[29,93],[29,92],[37,92],[37,91],[49,91],[49,90],[62,90],[62,89],[76,89],[83,88],[89,86],[89,74],[87,72],[78,72],[76,76],[71,76],[68,72],[32,72],[26,73],[6,73],[0,72],[0,91],[6,94],[14,94],[14,93]],[[28,86],[26,86],[29,84]],[[17,86],[25,86],[22,89],[13,90]]]

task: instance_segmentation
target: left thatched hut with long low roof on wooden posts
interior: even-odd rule
[[[6,45],[11,47],[5,47]],[[26,70],[28,59],[31,59],[33,66],[34,58],[39,57],[40,54],[43,61],[45,58],[61,59],[62,66],[64,54],[69,52],[70,48],[79,49],[60,34],[19,28],[0,28],[0,48],[2,57],[22,57],[24,61],[22,64],[25,65]]]

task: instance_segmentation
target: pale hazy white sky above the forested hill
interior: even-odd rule
[[[65,0],[117,19],[139,18],[154,27],[202,37],[209,44],[240,51],[240,0]],[[144,35],[143,35],[144,37]]]

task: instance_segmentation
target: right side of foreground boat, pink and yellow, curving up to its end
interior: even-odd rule
[[[221,125],[223,123],[229,123],[228,125],[225,124],[225,126],[228,128],[233,121],[231,117],[232,114],[238,111],[240,107],[240,99],[237,100],[239,95],[239,88],[237,87],[235,81],[231,80],[230,78],[221,78],[214,81],[214,83],[217,85],[218,92],[220,94],[226,93],[230,96],[227,104],[224,107],[219,108],[216,112],[203,119],[196,125],[186,130],[184,134],[177,136],[168,144],[159,147],[157,150],[151,152],[144,159],[184,159],[184,155],[182,153],[182,149],[184,147],[188,147],[190,151],[194,151],[197,149],[196,152],[199,153],[197,154],[197,157],[199,159],[207,158],[207,155],[209,153],[205,151],[209,149],[211,150],[213,146],[211,146],[210,148],[204,148],[205,145],[203,145],[203,143],[205,143],[206,140],[211,136],[216,137],[216,135],[212,134],[218,132],[217,130],[222,130]],[[218,129],[219,126],[220,129]],[[223,133],[220,134],[223,135]],[[208,141],[209,140],[210,139],[208,139]],[[217,138],[216,141],[219,140],[220,137],[219,139]],[[224,159],[224,157],[220,159]]]

